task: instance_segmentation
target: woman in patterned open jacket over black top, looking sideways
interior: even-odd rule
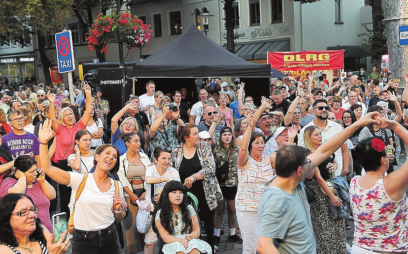
[[[198,128],[192,123],[180,125],[177,135],[181,144],[173,148],[171,160],[180,180],[199,200],[199,217],[204,221],[207,243],[214,252],[214,214],[222,194],[215,177],[211,145],[200,141]]]

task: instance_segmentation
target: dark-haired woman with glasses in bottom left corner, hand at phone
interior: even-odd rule
[[[64,254],[69,238],[63,232],[57,243],[37,217],[39,208],[30,196],[7,194],[0,199],[0,253]]]

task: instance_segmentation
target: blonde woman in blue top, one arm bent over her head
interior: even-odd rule
[[[128,110],[136,110],[136,102],[130,102],[125,105],[118,113],[116,113],[112,117],[111,121],[111,129],[112,129],[112,145],[116,146],[119,150],[119,155],[123,155],[128,148],[126,148],[125,141],[123,141],[122,137],[126,133],[138,131],[136,119],[134,117],[126,117],[120,125],[118,125],[118,121],[120,118],[127,113]]]

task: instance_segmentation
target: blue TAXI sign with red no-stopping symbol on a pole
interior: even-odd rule
[[[75,70],[71,30],[55,34],[57,46],[58,72],[65,73]]]

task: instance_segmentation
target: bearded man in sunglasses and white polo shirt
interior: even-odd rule
[[[331,137],[337,135],[343,129],[340,124],[327,119],[329,116],[329,106],[325,99],[316,100],[313,103],[312,108],[315,118],[302,128],[301,132],[299,133],[298,145],[305,146],[304,132],[308,126],[316,126],[322,130],[323,142],[326,142]],[[338,164],[336,175],[346,176],[350,161],[347,144],[342,144],[340,149],[335,152],[335,155],[336,162]]]

